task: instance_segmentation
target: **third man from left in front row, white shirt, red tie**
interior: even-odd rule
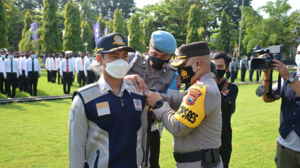
[[[75,71],[73,67],[73,62],[69,59],[69,54],[65,54],[65,59],[60,63],[60,77],[63,79],[64,94],[70,94],[70,87],[72,84],[72,78],[75,76]],[[66,84],[68,84],[68,89],[66,90]]]

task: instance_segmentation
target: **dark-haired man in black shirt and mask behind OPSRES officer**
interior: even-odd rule
[[[229,70],[231,58],[224,52],[215,53],[211,60],[216,64],[217,76],[215,80],[221,93],[221,111],[222,111],[222,135],[220,156],[223,161],[224,168],[228,167],[230,155],[232,152],[232,129],[231,115],[235,112],[235,99],[238,95],[238,87],[229,83],[224,77],[226,71]]]

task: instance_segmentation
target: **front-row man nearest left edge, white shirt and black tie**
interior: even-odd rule
[[[3,65],[3,75],[4,79],[6,79],[6,88],[7,88],[7,97],[10,99],[11,97],[16,98],[16,85],[17,79],[19,78],[19,69],[18,63],[13,59],[13,52],[9,52],[9,59],[4,61]],[[12,86],[12,94],[10,92],[10,86]]]

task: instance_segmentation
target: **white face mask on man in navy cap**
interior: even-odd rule
[[[103,58],[102,58],[103,59]],[[103,59],[104,61],[104,59]],[[106,63],[104,61],[104,63]],[[106,70],[106,72],[113,78],[124,78],[127,69],[128,69],[128,62],[126,62],[123,59],[118,59],[118,60],[114,60],[110,63],[106,63],[106,68],[104,68]]]

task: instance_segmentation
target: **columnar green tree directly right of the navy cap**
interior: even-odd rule
[[[139,14],[131,15],[128,24],[128,33],[128,46],[143,53],[146,48],[143,45],[143,31]]]

